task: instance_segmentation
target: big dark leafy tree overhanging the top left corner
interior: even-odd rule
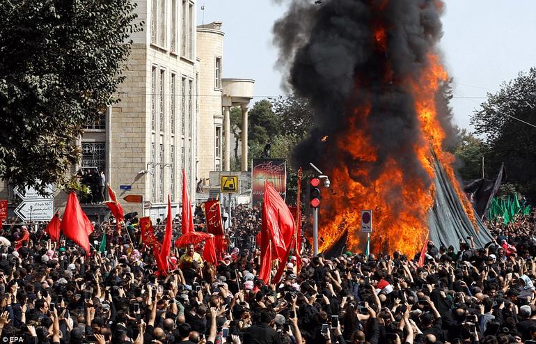
[[[135,6],[0,1],[0,178],[40,191],[65,182],[84,125],[117,101]]]

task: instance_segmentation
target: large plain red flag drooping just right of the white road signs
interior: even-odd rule
[[[60,228],[65,237],[76,242],[86,253],[89,253],[89,235],[93,233],[93,225],[82,211],[74,192],[71,192],[67,198]]]

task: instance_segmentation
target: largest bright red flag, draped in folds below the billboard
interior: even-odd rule
[[[292,248],[295,234],[294,217],[285,201],[269,182],[265,181],[265,193],[262,202],[262,235],[261,255],[262,266],[259,278],[265,283],[271,272],[271,260],[278,259],[285,265]]]

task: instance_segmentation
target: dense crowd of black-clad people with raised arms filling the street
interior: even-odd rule
[[[203,230],[203,212],[195,214]],[[276,284],[257,278],[260,210],[233,210],[218,265],[204,262],[200,247],[173,248],[166,276],[139,244],[136,215],[120,235],[112,222],[96,226],[90,256],[51,242],[41,226],[3,226],[2,343],[536,343],[528,217],[490,224],[495,241],[484,248],[470,237],[458,247],[429,242],[423,266],[419,254],[328,259],[304,249],[301,269],[290,256]]]

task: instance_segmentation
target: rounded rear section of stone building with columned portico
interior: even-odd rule
[[[252,79],[225,79],[223,75],[223,45],[225,34],[221,22],[197,27],[197,54],[200,60],[199,78],[199,157],[198,178],[206,188],[199,188],[199,200],[207,197],[211,171],[230,171],[230,149],[233,134],[230,127],[230,108],[242,109],[242,137],[240,152],[242,171],[247,170],[247,125],[249,102],[253,98]],[[222,112],[223,109],[223,112]]]

